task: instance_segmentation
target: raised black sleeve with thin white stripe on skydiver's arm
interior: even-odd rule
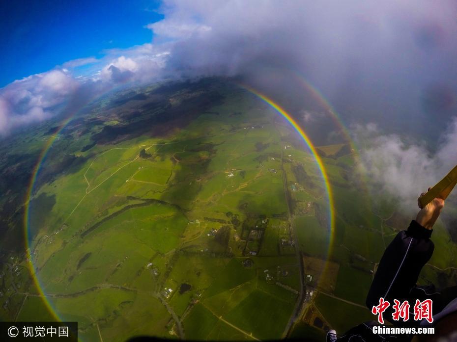
[[[433,254],[432,231],[412,220],[408,230],[397,234],[387,246],[368,292],[366,304],[370,310],[379,304],[380,297],[389,301],[408,297]]]

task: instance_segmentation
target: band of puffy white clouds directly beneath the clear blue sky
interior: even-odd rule
[[[112,51],[101,60],[72,60],[0,89],[0,136],[56,115],[71,114],[119,83],[160,78],[166,53],[156,55],[150,44],[122,53]],[[92,65],[91,73],[78,75],[78,68],[87,65]]]

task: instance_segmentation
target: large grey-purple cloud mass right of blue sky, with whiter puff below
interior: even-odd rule
[[[241,75],[291,108],[302,96],[278,70],[304,76],[366,144],[372,179],[408,204],[455,165],[455,1],[168,0],[162,11],[148,27],[173,42],[166,70]]]

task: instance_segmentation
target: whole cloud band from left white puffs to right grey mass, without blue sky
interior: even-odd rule
[[[0,132],[68,111],[88,89],[93,96],[120,82],[204,76],[274,84],[271,68],[303,75],[348,123],[437,138],[455,115],[455,1],[165,0],[160,11],[164,19],[146,26],[150,43],[0,89]]]

